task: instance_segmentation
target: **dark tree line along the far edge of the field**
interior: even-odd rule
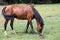
[[[43,3],[60,3],[60,0],[0,0],[0,3],[15,4],[15,3],[33,3],[33,4],[43,4]]]

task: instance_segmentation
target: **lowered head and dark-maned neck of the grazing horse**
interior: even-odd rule
[[[34,9],[34,16],[35,16],[35,19],[36,19],[36,22],[37,22],[37,31],[40,33],[42,33],[42,30],[43,30],[43,26],[44,26],[44,21],[41,17],[41,15],[39,14],[39,12]]]

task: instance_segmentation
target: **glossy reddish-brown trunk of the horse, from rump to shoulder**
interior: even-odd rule
[[[30,5],[8,5],[6,6],[5,14],[18,19],[27,19],[33,17],[34,12]]]

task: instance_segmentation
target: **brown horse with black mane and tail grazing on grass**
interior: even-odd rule
[[[7,35],[6,27],[7,27],[9,20],[11,21],[10,22],[11,29],[14,31],[14,28],[13,28],[14,18],[17,18],[20,20],[28,20],[26,32],[28,32],[29,24],[31,25],[32,32],[34,32],[33,25],[32,25],[32,19],[36,19],[37,31],[40,35],[42,35],[42,29],[44,26],[44,22],[43,22],[42,17],[39,15],[38,11],[32,5],[30,4],[25,5],[25,6],[8,5],[2,9],[2,15],[5,18],[5,23],[4,23],[5,35]]]

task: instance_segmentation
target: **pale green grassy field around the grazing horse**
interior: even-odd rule
[[[0,6],[1,9],[4,6]],[[43,4],[35,5],[35,8],[40,12],[40,15],[44,19],[44,39],[43,40],[60,40],[60,4]],[[36,22],[33,20],[34,30],[37,34],[25,34],[23,33],[26,28],[27,21],[15,19],[14,29],[17,35],[11,33],[11,28],[8,24],[7,33],[8,37],[4,36],[4,18],[0,14],[0,40],[40,40],[37,33]],[[29,28],[30,32],[31,28]]]

